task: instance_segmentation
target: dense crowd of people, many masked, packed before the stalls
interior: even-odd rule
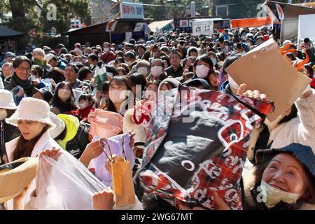
[[[181,87],[204,92],[231,90],[225,69],[269,38],[274,34],[267,27],[215,29],[211,36],[197,37],[169,31],[146,41],[131,39],[117,45],[76,43],[69,50],[59,44],[55,49],[35,48],[23,56],[6,52],[0,78],[1,208],[36,209],[30,202],[36,197],[33,179],[38,178],[38,172],[32,173],[28,183],[8,181],[18,176],[5,174],[21,167],[21,161],[34,162],[30,158],[36,157],[57,160],[57,155],[66,151],[108,187],[92,195],[93,208],[113,209],[111,164],[121,155],[108,157],[96,137],[111,139],[126,134],[130,146],[126,147],[132,153],[123,148],[137,179],[151,141],[148,126],[155,122],[151,104]],[[267,132],[267,137],[257,137],[260,144],[248,146],[241,167],[242,209],[315,209],[315,48],[309,38],[301,45],[284,41],[280,46],[290,50],[286,56],[292,66],[308,58],[299,72],[311,83],[285,114],[273,123],[265,122],[260,134]],[[260,101],[268,99],[267,93],[245,87],[232,92]],[[259,146],[265,148],[255,148]],[[112,151],[119,154],[114,148]],[[104,160],[98,159],[101,156]],[[104,171],[97,168],[99,161]],[[20,172],[29,174],[29,167]],[[207,208],[169,204],[137,184],[134,181],[136,202],[129,209]],[[262,189],[263,203],[258,200],[258,188]],[[231,209],[216,193],[211,200],[216,209]]]

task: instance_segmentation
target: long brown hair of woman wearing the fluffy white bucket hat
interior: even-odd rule
[[[20,158],[30,157],[31,152],[33,151],[34,146],[36,145],[37,141],[41,139],[41,137],[43,136],[45,132],[47,132],[49,127],[50,125],[46,125],[45,127],[43,127],[43,130],[41,131],[41,133],[31,140],[26,140],[21,134],[18,139],[18,143],[16,144],[15,150],[13,151],[12,160],[14,161]]]

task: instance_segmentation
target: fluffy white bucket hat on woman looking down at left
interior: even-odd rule
[[[6,118],[6,123],[18,126],[18,120],[38,121],[50,125],[50,129],[55,127],[49,116],[49,104],[42,99],[26,97],[22,99],[18,108],[10,118]]]

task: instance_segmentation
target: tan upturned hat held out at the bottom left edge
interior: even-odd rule
[[[23,162],[15,169],[0,174],[0,203],[20,195],[22,190],[35,178],[38,158],[20,158],[7,165]]]

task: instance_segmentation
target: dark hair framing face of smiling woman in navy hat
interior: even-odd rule
[[[271,153],[271,154],[267,155],[262,161],[256,163],[255,170],[253,172],[253,174],[255,176],[255,186],[260,186],[260,183],[262,180],[262,175],[265,172],[265,169],[268,167],[268,165],[272,161],[272,159],[274,157],[276,157],[276,155],[279,155],[280,153],[283,153],[283,152]],[[290,153],[288,153],[288,154],[290,154]],[[292,155],[292,154],[290,154],[290,155]],[[306,201],[304,199],[300,199],[299,200],[300,202],[297,202],[296,204],[286,204],[284,206],[284,207],[286,207],[286,209],[290,209],[290,210],[300,209],[300,207],[302,206],[301,202],[305,202],[305,201],[308,203],[311,202],[311,204],[315,203],[315,189],[314,189],[315,178],[307,169],[305,169],[304,165],[303,165],[303,168],[304,168],[304,172],[307,176],[307,180],[306,180],[307,186],[311,187],[311,189],[307,189],[307,190],[309,190],[309,200]]]

